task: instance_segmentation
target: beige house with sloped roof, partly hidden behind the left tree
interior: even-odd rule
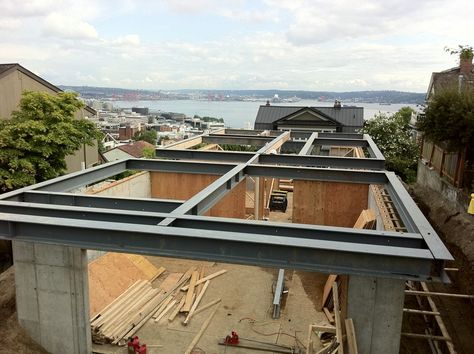
[[[0,64],[0,119],[10,119],[11,113],[18,109],[23,91],[42,91],[50,94],[62,92],[61,89],[25,69],[20,64]],[[79,110],[76,118],[88,118],[96,111],[86,106]],[[85,145],[74,155],[66,157],[67,172],[80,171],[98,163],[97,144]]]

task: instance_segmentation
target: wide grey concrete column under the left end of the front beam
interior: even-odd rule
[[[53,354],[92,352],[86,251],[13,241],[18,321]]]

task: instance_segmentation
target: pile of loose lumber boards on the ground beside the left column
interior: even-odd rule
[[[216,299],[200,305],[210,280],[225,272],[205,276],[202,267],[200,270],[191,267],[184,274],[169,274],[157,288],[148,280],[136,281],[91,319],[93,342],[125,344],[148,321],[167,318],[171,322],[180,313],[182,324],[187,325],[195,314],[221,301]]]

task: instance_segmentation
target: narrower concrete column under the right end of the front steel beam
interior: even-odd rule
[[[347,318],[352,318],[359,354],[398,354],[405,281],[349,276]]]

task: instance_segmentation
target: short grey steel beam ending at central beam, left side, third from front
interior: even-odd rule
[[[169,213],[183,204],[180,200],[117,198],[98,195],[82,195],[43,191],[26,191],[21,197],[23,202],[82,206],[89,208],[121,209]]]

